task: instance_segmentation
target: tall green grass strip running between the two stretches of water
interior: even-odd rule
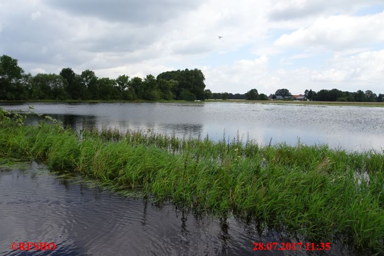
[[[0,157],[38,159],[52,170],[140,189],[158,200],[251,216],[322,242],[343,236],[357,248],[383,251],[383,152],[139,131],[78,134],[52,123],[25,126],[1,114],[0,120]]]

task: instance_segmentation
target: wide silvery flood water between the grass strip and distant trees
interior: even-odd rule
[[[0,103],[7,109],[28,105]],[[213,140],[244,135],[261,144],[328,144],[346,150],[384,148],[384,108],[246,103],[33,103],[64,125],[152,129]]]

